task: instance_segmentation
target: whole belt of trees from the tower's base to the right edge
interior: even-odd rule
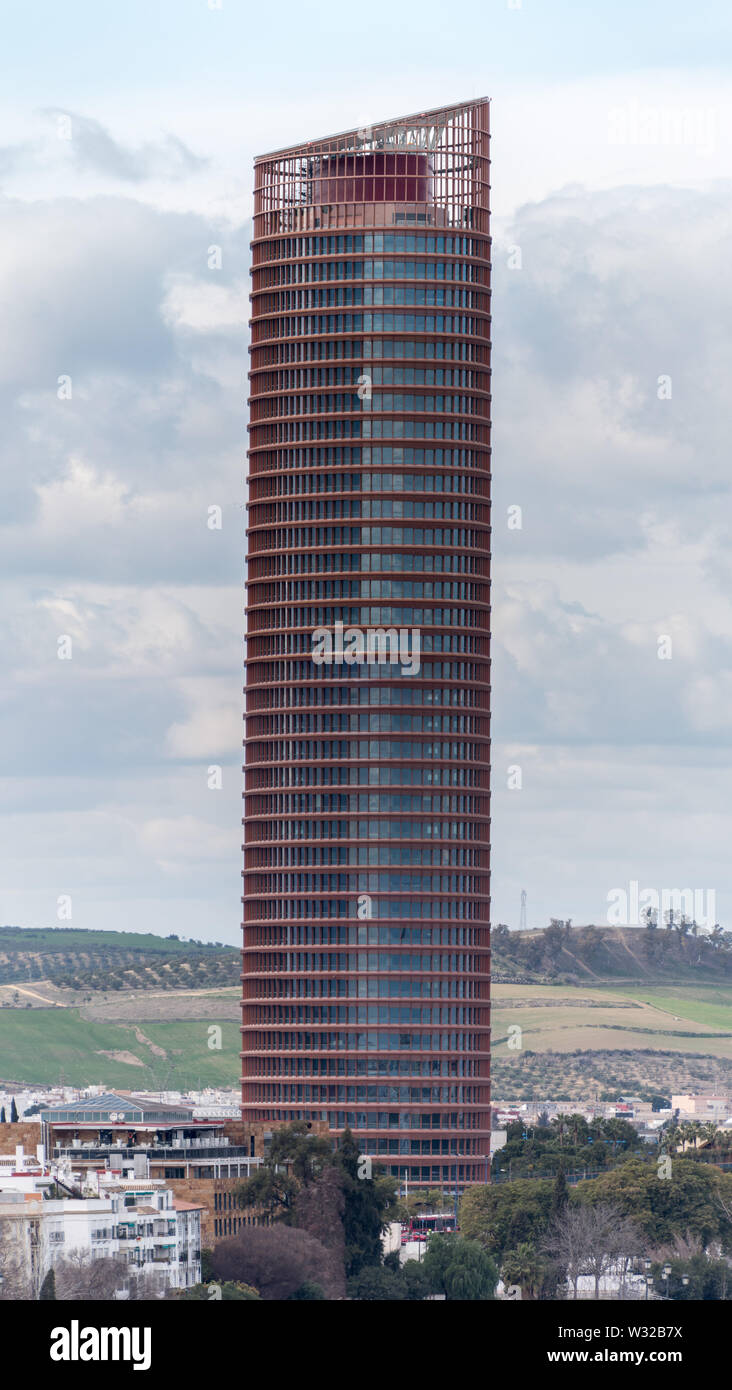
[[[571,1163],[592,1127],[578,1120],[560,1116],[557,1125],[540,1126],[547,1150],[557,1145]],[[604,1125],[610,1127],[594,1136],[608,1147],[600,1176],[569,1188],[560,1165],[554,1179],[471,1187],[460,1205],[460,1234],[432,1236],[424,1259],[404,1265],[397,1252],[382,1257],[385,1222],[407,1215],[393,1182],[364,1176],[367,1161],[353,1136],[333,1154],[328,1140],[288,1126],[275,1134],[269,1161],[240,1188],[242,1204],[264,1211],[269,1223],[221,1241],[207,1277],[219,1290],[246,1286],[264,1300],[393,1302],[490,1300],[499,1276],[522,1298],[578,1297],[579,1280],[589,1276],[599,1297],[610,1272],[622,1287],[640,1269],[650,1270],[665,1297],[726,1298],[732,1175],[676,1155],[664,1179],[656,1163],[635,1154],[631,1126]],[[442,1207],[444,1195],[410,1194],[410,1211],[419,1205]],[[207,1298],[210,1287],[186,1297]]]

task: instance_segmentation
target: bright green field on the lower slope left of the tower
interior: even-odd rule
[[[208,1047],[208,1029],[221,1027],[221,1051]],[[164,1055],[135,1036],[139,1029]],[[240,1074],[239,1027],[231,1019],[171,1023],[93,1023],[78,1009],[0,1011],[0,1079],[47,1086],[121,1086],[128,1090],[185,1090],[236,1086]],[[139,1063],[104,1054],[125,1052]]]

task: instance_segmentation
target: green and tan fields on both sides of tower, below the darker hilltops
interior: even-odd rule
[[[0,1009],[0,1080],[128,1090],[238,1083],[238,987],[99,994],[93,1002],[72,991],[56,997],[65,1006]],[[504,1094],[521,1077],[547,1097],[561,1088],[585,1094],[592,1076],[599,1086],[617,1076],[625,1086],[647,1079],[682,1090],[721,1068],[732,1080],[726,986],[496,983],[492,1012],[493,1070]],[[222,1030],[221,1049],[208,1047],[213,1024]],[[508,1047],[515,1024],[518,1051]]]

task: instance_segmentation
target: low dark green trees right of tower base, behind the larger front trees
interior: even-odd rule
[[[508,1125],[506,1144],[493,1155],[493,1176],[528,1177],[558,1173],[597,1172],[614,1168],[629,1154],[642,1154],[647,1145],[628,1120],[608,1119],[588,1123],[583,1115],[557,1115],[538,1125]]]

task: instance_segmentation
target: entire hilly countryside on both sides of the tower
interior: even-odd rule
[[[690,927],[496,927],[496,1099],[732,1090],[731,945]],[[0,1080],[236,1086],[239,970],[233,947],[0,929]]]

